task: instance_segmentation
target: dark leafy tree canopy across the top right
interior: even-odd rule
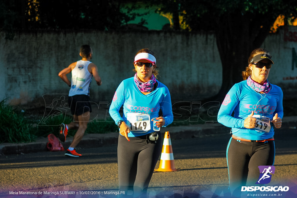
[[[218,24],[227,16],[237,19],[238,23],[242,23],[241,16],[246,16],[251,22],[259,20],[263,23],[267,23],[267,20],[262,20],[267,16],[272,20],[276,20],[280,14],[287,17],[292,14],[297,17],[297,4],[293,0],[151,0],[150,4],[159,5],[157,12],[170,12],[182,16],[180,24],[189,25],[190,28],[186,30],[192,31],[214,31],[220,28]]]

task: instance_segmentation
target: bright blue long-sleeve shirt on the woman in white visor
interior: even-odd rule
[[[128,113],[142,113],[150,115],[150,119],[159,117],[159,111],[162,110],[165,118],[165,125],[168,126],[173,121],[171,98],[168,88],[157,80],[157,88],[151,93],[144,95],[140,92],[134,82],[134,77],[123,80],[114,94],[109,113],[113,120],[118,123],[124,120],[127,123]],[[123,105],[123,117],[119,110]],[[153,121],[150,121],[151,129],[146,132],[128,133],[128,137],[137,137],[140,135],[154,132]]]

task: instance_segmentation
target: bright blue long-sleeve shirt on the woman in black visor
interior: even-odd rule
[[[265,140],[274,135],[273,124],[269,132],[260,132],[255,129],[244,128],[244,120],[254,111],[254,115],[268,117],[270,120],[278,113],[278,117],[284,115],[282,99],[282,89],[277,85],[272,85],[271,90],[266,94],[260,94],[250,88],[246,80],[233,85],[219,113],[218,122],[232,128],[232,133],[237,137],[248,140]],[[234,111],[234,115],[232,115]]]

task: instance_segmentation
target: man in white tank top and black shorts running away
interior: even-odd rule
[[[71,157],[81,156],[81,154],[76,153],[74,148],[83,138],[90,119],[92,107],[90,104],[89,90],[92,77],[94,76],[97,85],[101,85],[98,68],[94,63],[90,62],[93,56],[91,47],[89,45],[82,45],[79,55],[82,57],[80,61],[70,64],[59,73],[59,77],[71,87],[68,96],[68,104],[71,114],[74,117],[74,122],[67,125],[62,123],[60,125],[60,140],[65,142],[68,129],[78,129],[73,137],[72,143],[65,153],[65,156]],[[70,72],[72,75],[71,82],[66,76],[66,74]]]

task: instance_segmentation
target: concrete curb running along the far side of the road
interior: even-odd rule
[[[297,116],[287,117],[283,119],[282,127],[296,129]],[[187,126],[168,126],[161,129],[161,134],[165,132],[170,133],[172,141],[181,138],[195,138],[213,135],[230,135],[230,128],[223,126],[220,123],[205,123],[198,125]],[[296,130],[297,131],[297,130]],[[277,131],[276,131],[277,132]],[[231,136],[231,135],[230,135]],[[96,148],[118,143],[119,133],[106,133],[106,134],[86,134],[80,141],[77,148]],[[64,148],[68,148],[71,144],[72,137],[62,142]],[[33,152],[48,151],[46,144],[48,138],[37,138],[35,142],[29,143],[2,143],[0,144],[0,155],[11,154],[25,154]]]

